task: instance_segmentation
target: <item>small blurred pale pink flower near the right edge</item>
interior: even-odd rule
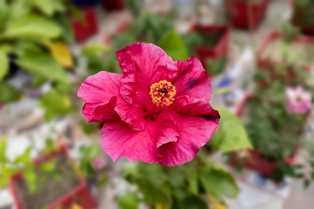
[[[311,94],[304,91],[301,86],[295,88],[287,87],[285,94],[289,102],[288,113],[303,114],[311,108]]]

